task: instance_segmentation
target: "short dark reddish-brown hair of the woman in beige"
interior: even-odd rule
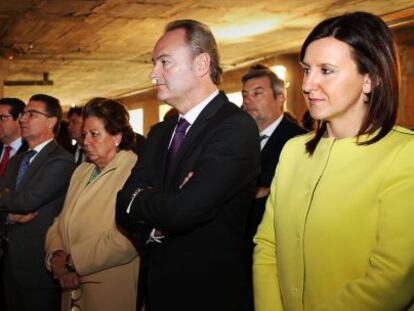
[[[116,100],[95,97],[83,107],[83,120],[96,117],[103,121],[105,130],[111,134],[122,134],[119,149],[132,150],[135,144],[135,134],[129,124],[129,113],[121,103]]]

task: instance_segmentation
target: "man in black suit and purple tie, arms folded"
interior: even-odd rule
[[[179,114],[151,129],[117,202],[119,226],[146,244],[146,307],[252,310],[244,232],[259,171],[257,126],[217,90],[207,26],[168,24],[152,57],[157,97]]]

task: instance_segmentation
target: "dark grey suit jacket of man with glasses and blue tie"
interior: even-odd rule
[[[53,287],[55,282],[45,268],[44,242],[48,227],[62,208],[75,168],[73,156],[51,141],[34,158],[21,182],[21,189],[15,191],[23,157],[24,153],[21,153],[11,158],[0,178],[0,191],[10,189],[2,197],[1,208],[16,214],[38,211],[39,215],[29,223],[9,226],[5,269],[23,288]]]

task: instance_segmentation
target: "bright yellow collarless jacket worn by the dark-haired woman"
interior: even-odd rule
[[[323,138],[311,157],[309,138],[285,146],[255,236],[256,311],[408,310],[414,133],[396,127],[368,146]]]

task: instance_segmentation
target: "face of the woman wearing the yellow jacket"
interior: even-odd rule
[[[328,121],[328,126],[353,124],[359,129],[371,80],[358,72],[352,48],[332,37],[316,40],[307,47],[302,67],[302,92],[312,117]]]

